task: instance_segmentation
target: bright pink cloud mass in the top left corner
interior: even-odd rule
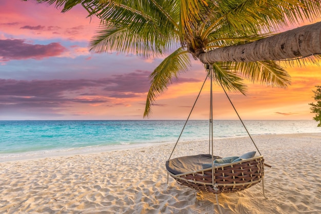
[[[6,32],[11,38],[70,39],[72,36],[72,40],[88,41],[99,25],[98,18],[87,18],[88,12],[81,5],[61,13],[62,8],[36,1],[0,2],[0,33]]]

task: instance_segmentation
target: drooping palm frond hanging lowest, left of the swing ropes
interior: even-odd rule
[[[144,117],[151,114],[151,105],[156,97],[167,89],[167,85],[177,78],[179,73],[187,72],[190,68],[189,53],[184,48],[178,48],[166,57],[151,73],[151,86],[147,94]]]

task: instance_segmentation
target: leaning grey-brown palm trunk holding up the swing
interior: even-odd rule
[[[321,22],[248,44],[214,49],[198,56],[203,63],[293,59],[321,54]]]

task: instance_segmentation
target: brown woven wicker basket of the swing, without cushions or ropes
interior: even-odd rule
[[[169,170],[167,172],[177,183],[197,191],[213,194],[230,193],[247,189],[263,180],[264,158],[257,156],[177,175]]]

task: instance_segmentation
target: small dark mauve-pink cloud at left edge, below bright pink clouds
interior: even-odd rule
[[[24,39],[0,40],[0,61],[13,59],[43,59],[46,57],[59,56],[67,51],[57,42],[48,45],[27,44]]]

